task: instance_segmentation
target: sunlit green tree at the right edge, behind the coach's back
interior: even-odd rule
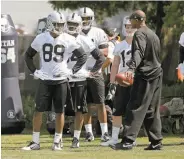
[[[166,16],[162,27],[162,67],[164,83],[174,84],[177,81],[176,67],[179,59],[179,38],[184,32],[184,2],[173,1],[164,7]]]

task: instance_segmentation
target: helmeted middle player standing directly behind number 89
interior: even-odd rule
[[[95,44],[88,36],[80,35],[82,29],[82,18],[76,14],[72,13],[67,17],[66,32],[76,38],[77,43],[83,48],[87,53],[87,57],[91,56],[96,60],[90,73],[86,70],[86,65],[75,74],[75,77],[70,78],[70,86],[72,99],[75,107],[75,124],[74,124],[74,138],[72,141],[71,148],[79,147],[79,137],[83,125],[83,114],[88,112],[86,95],[87,95],[87,82],[86,78],[90,78],[90,74],[98,71],[103,64],[104,57],[96,49]],[[71,53],[68,60],[68,68],[72,69],[76,64],[75,54]]]

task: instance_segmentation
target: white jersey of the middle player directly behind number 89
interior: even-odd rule
[[[76,42],[78,45],[80,45],[80,47],[83,48],[83,50],[85,51],[85,53],[87,54],[88,58],[90,56],[90,53],[96,48],[95,44],[92,42],[92,40],[88,37],[88,36],[84,36],[84,35],[78,35],[76,37]],[[73,66],[76,64],[77,62],[77,58],[74,56],[74,54],[72,52],[69,53],[69,59],[68,59],[68,69],[72,69]],[[82,74],[87,72],[86,69],[86,63],[82,66],[82,68],[77,72],[77,74]],[[69,81],[70,82],[75,82],[75,81],[83,81],[86,80],[86,78],[71,78]]]

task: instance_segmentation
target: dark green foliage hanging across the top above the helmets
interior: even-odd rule
[[[118,14],[119,11],[132,11],[135,9],[143,10],[147,15],[148,25],[156,30],[160,36],[163,25],[162,18],[164,14],[164,6],[171,2],[149,2],[149,1],[49,1],[52,7],[56,10],[69,8],[76,10],[80,7],[87,6],[94,10],[97,22],[101,23],[104,17],[111,17]]]

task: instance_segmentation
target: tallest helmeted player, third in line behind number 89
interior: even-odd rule
[[[97,49],[101,51],[103,55],[107,54],[108,50],[108,38],[105,32],[97,27],[93,27],[94,12],[88,8],[80,8],[78,14],[82,17],[82,34],[91,38]],[[90,56],[87,60],[87,69],[92,70],[96,59]],[[91,104],[95,104],[98,108],[98,120],[101,126],[101,141],[109,140],[108,128],[107,128],[107,113],[104,105],[105,98],[105,84],[101,69],[93,73],[95,78],[87,78],[87,104],[88,113],[85,114],[84,124],[86,129],[86,141],[94,140],[92,132],[91,121]]]

